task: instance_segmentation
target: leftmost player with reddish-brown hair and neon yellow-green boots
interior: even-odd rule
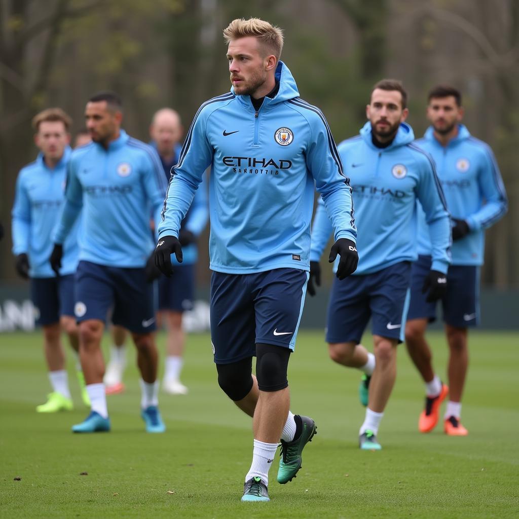
[[[78,329],[74,318],[74,272],[78,261],[75,225],[63,244],[63,263],[59,275],[54,274],[48,258],[52,250],[51,233],[56,226],[64,200],[66,167],[71,149],[71,118],[61,108],[48,108],[32,121],[34,141],[40,153],[34,162],[21,169],[16,183],[12,208],[12,252],[16,255],[16,271],[31,280],[31,297],[42,326],[44,350],[52,392],[38,413],[69,411],[73,408],[65,368],[61,332],[69,337],[78,351]],[[78,379],[85,405],[90,405],[83,373]]]

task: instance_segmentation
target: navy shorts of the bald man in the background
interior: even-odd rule
[[[159,311],[184,312],[193,309],[195,265],[175,265],[171,278],[160,276]]]

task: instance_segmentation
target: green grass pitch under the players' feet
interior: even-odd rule
[[[443,337],[430,339],[443,375]],[[315,418],[319,430],[293,482],[277,484],[273,463],[270,503],[240,502],[252,455],[251,421],[218,388],[208,335],[188,339],[183,381],[189,394],[161,395],[168,426],[161,435],[144,432],[133,366],[126,393],[108,397],[111,433],[70,432],[87,414],[70,359],[76,409],[36,414],[49,390],[40,338],[4,334],[0,340],[2,518],[519,516],[517,334],[471,336],[463,400],[467,438],[447,437],[441,425],[427,435],[417,432],[424,389],[401,347],[397,384],[379,431],[384,449],[375,453],[357,446],[364,416],[359,373],[327,358],[322,334],[300,333],[289,368],[291,408]]]

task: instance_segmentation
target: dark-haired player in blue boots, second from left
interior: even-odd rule
[[[110,430],[100,348],[108,309],[114,324],[132,333],[141,372],[141,416],[148,432],[163,432],[158,410],[155,308],[147,262],[153,251],[147,208],[160,217],[166,183],[154,149],[120,128],[122,105],[113,92],[93,95],[85,118],[92,143],[72,154],[65,204],[54,231],[50,263],[61,265],[63,242],[83,209],[75,315],[79,354],[92,404],[74,432]],[[153,260],[153,255],[151,256]],[[148,265],[148,268],[146,268]]]

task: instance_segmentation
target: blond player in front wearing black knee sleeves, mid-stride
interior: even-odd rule
[[[173,168],[157,266],[182,258],[181,222],[211,166],[211,340],[218,384],[253,417],[243,501],[268,501],[268,470],[281,438],[278,482],[292,480],[315,422],[289,411],[286,378],[308,280],[314,183],[335,226],[338,275],[357,266],[351,191],[321,111],[299,98],[279,57],[282,31],[252,18],[224,30],[232,88],[198,110]],[[256,376],[252,358],[256,357]]]

